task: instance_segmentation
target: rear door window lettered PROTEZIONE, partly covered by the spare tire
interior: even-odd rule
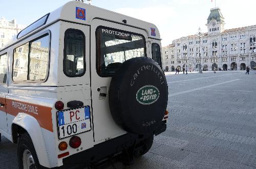
[[[126,60],[146,57],[143,35],[109,27],[98,27],[96,31],[96,69],[101,77],[113,76]]]

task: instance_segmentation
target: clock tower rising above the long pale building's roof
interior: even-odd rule
[[[218,7],[212,8],[206,24],[208,27],[208,35],[222,33],[224,31],[224,24],[225,22],[221,9]]]

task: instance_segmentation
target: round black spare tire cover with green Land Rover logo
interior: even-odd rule
[[[115,71],[109,106],[114,121],[127,132],[154,133],[162,122],[167,101],[166,78],[154,60],[133,58]]]

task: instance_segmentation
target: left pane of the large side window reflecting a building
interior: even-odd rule
[[[29,42],[14,49],[13,52],[13,81],[21,81],[28,79],[28,55]],[[16,73],[14,73],[16,72]]]

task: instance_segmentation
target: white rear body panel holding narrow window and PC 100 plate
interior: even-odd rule
[[[69,140],[71,136],[78,135],[82,139],[82,147],[88,149],[93,146],[90,26],[60,23],[60,42],[64,44],[59,50],[58,100],[64,103],[65,110],[57,113],[58,138]]]

